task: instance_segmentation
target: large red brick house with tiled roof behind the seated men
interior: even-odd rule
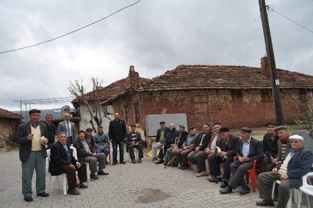
[[[246,66],[180,65],[153,79],[133,76],[133,87],[102,103],[112,106],[128,124],[146,130],[146,116],[186,114],[188,126],[220,121],[229,128],[259,127],[275,121],[268,61],[261,68]],[[277,69],[285,123],[294,123],[294,100],[313,89],[313,76]],[[131,80],[130,80],[131,81]]]

